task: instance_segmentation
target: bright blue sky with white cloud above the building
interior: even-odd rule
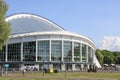
[[[23,12],[34,13],[68,31],[88,36],[97,48],[120,49],[120,0],[5,1],[9,5],[7,16]],[[111,48],[113,44],[114,48]]]

